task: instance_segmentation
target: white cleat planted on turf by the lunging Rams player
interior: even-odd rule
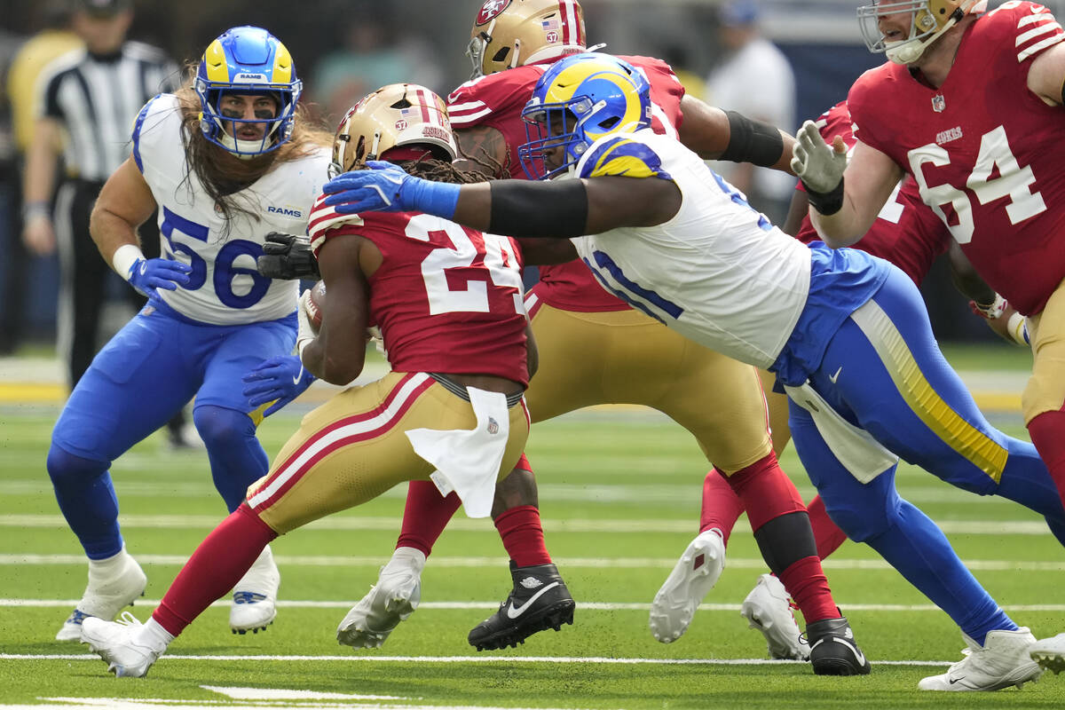
[[[1016,631],[989,631],[981,646],[962,634],[968,648],[965,658],[940,676],[929,676],[917,683],[920,690],[992,691],[1035,681],[1043,668],[1029,656],[1035,637],[1026,627]]]

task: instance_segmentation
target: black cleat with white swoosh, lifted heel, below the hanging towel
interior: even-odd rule
[[[519,567],[510,561],[514,588],[499,610],[470,631],[470,645],[477,650],[517,647],[537,631],[562,628],[573,623],[576,607],[554,564]]]

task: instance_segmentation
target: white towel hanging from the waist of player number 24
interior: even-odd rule
[[[468,516],[488,517],[510,436],[510,414],[503,393],[474,387],[466,392],[477,417],[475,429],[413,429],[407,437],[414,452],[437,467],[430,478],[440,495],[455,491]]]

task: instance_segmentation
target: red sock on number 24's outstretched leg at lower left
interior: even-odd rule
[[[196,548],[151,617],[178,635],[236,585],[275,538],[277,533],[241,503]]]

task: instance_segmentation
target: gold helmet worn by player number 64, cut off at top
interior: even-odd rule
[[[870,52],[884,52],[896,64],[911,64],[966,13],[982,12],[986,5],[986,0],[873,2],[858,7],[858,27]],[[880,31],[880,18],[903,13],[910,13],[910,36],[900,42],[886,42]]]

